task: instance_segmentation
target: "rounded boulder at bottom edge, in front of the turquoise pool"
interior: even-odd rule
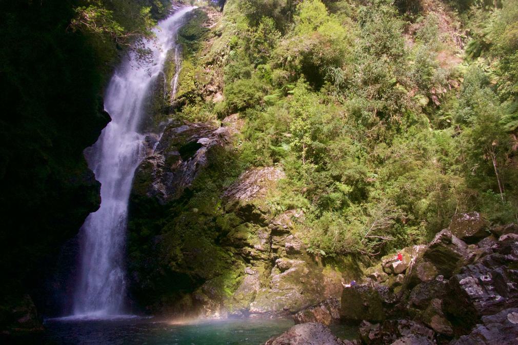
[[[341,340],[321,323],[310,322],[295,325],[280,336],[266,341],[265,345],[353,345]]]

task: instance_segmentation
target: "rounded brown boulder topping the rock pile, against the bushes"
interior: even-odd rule
[[[489,226],[490,223],[479,212],[470,212],[455,214],[448,229],[453,236],[466,243],[477,243],[491,234]]]

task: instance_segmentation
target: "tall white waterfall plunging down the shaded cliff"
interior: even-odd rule
[[[151,85],[163,73],[167,52],[175,48],[176,55],[179,51],[176,36],[182,19],[194,8],[180,8],[160,21],[154,31],[156,39],[145,42],[152,52],[151,62],[135,64],[135,56],[128,57],[108,85],[105,108],[112,121],[88,157],[90,167],[102,183],[102,202],[80,230],[81,267],[74,300],[76,318],[110,318],[124,312],[123,252],[128,199],[135,169],[144,154],[144,136],[138,133],[138,127],[146,114],[145,103]],[[177,62],[177,71],[178,68]],[[172,98],[177,80],[175,76]]]

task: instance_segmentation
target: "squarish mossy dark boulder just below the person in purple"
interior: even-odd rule
[[[346,287],[342,292],[340,317],[349,321],[383,321],[395,302],[396,297],[387,286],[364,283]]]

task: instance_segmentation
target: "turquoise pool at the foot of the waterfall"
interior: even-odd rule
[[[168,324],[153,320],[47,321],[45,345],[260,345],[293,326],[291,320],[224,320]],[[341,338],[354,330],[334,326]]]

